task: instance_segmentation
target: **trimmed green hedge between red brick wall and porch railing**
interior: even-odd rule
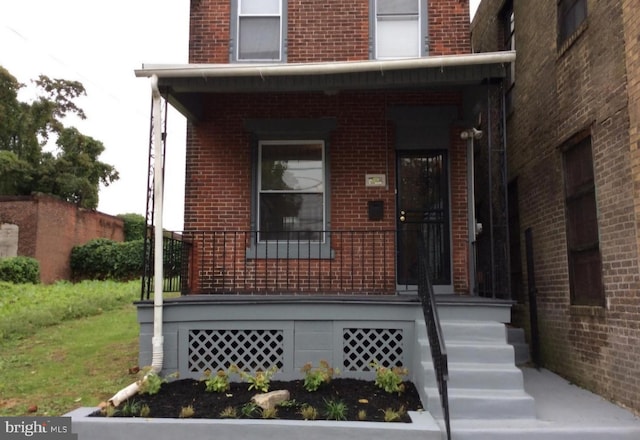
[[[96,238],[71,250],[74,279],[131,280],[142,275],[143,241],[118,243]]]

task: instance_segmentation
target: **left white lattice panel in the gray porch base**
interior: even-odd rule
[[[266,371],[284,365],[283,330],[189,330],[188,371]]]

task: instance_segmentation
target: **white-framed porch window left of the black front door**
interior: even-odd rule
[[[324,241],[325,145],[322,140],[258,145],[258,243]]]

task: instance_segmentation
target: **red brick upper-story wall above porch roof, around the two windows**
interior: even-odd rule
[[[190,63],[228,63],[230,0],[192,0]],[[289,0],[287,62],[369,59],[369,0]],[[469,1],[428,1],[429,54],[469,53]]]

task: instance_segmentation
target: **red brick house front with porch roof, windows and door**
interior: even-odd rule
[[[472,293],[461,134],[514,55],[472,55],[468,14],[193,0],[190,64],[136,72],[188,119],[188,292],[395,294],[415,284],[422,228],[436,290]]]

